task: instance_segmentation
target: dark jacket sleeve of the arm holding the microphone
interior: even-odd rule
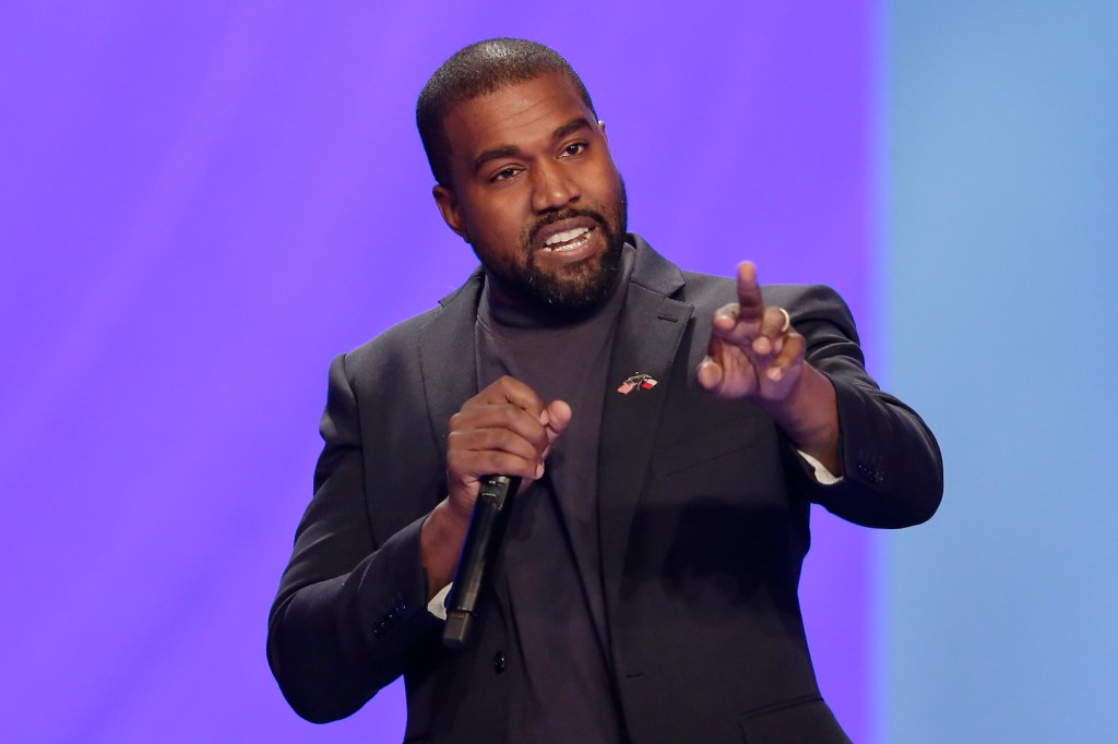
[[[419,551],[426,514],[382,542],[371,527],[358,401],[345,364],[342,355],[330,368],[314,496],[268,618],[272,673],[295,712],[315,723],[351,715],[408,665],[434,654],[442,627],[426,609]]]

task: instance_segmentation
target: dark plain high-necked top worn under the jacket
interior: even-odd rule
[[[503,374],[543,400],[570,404],[544,477],[514,502],[494,580],[509,589],[513,648],[505,649],[510,741],[618,742],[598,544],[598,439],[617,316],[634,249],[625,246],[613,296],[556,322],[499,298],[486,284],[474,334],[477,381]]]

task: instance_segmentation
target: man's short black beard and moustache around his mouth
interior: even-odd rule
[[[522,231],[520,242],[527,256],[523,264],[489,263],[486,269],[498,279],[501,289],[532,308],[565,319],[587,316],[604,305],[617,288],[628,220],[624,181],[620,182],[617,203],[612,211],[609,217],[613,220],[607,219],[601,207],[551,212]],[[595,221],[596,229],[601,230],[605,237],[606,250],[561,270],[542,269],[536,260],[537,252],[532,249],[537,236],[549,225],[577,217],[588,217]]]

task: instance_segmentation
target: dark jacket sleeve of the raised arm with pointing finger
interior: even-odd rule
[[[811,500],[869,527],[906,527],[935,514],[944,490],[944,464],[930,429],[865,371],[858,332],[842,298],[824,286],[802,287],[789,301],[807,362],[834,384],[843,479],[812,481]]]

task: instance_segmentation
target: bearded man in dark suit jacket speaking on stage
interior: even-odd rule
[[[845,305],[627,233],[605,127],[546,47],[463,49],[417,120],[482,268],[331,368],[269,621],[288,702],[331,721],[404,675],[407,741],[847,741],[796,594],[809,505],[916,524],[942,471]],[[522,487],[449,650],[440,599],[491,474]]]

